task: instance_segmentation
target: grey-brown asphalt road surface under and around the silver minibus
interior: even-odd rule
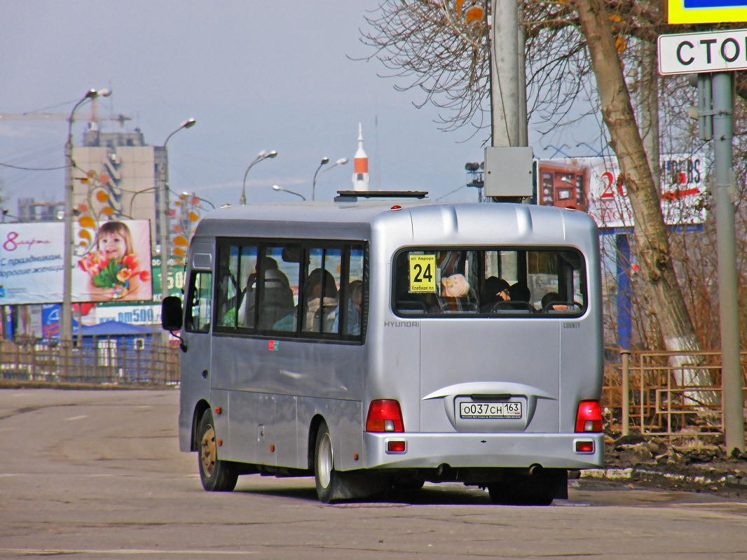
[[[322,505],[313,479],[202,491],[176,391],[0,390],[0,558],[744,559],[747,503],[571,482],[549,507],[426,485]]]

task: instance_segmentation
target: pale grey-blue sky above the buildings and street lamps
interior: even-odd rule
[[[310,198],[321,158],[350,163],[317,180],[317,200],[352,188],[358,125],[371,189],[427,190],[432,198],[477,200],[463,187],[465,163],[483,161],[487,132],[438,130],[438,110],[418,109],[417,91],[379,75],[387,70],[360,41],[369,0],[0,0],[0,114],[69,113],[87,90],[109,88],[99,117],[131,116],[160,146],[188,118],[193,128],[168,143],[170,187],[215,205],[237,204],[249,163],[247,202],[291,200],[273,184]],[[89,113],[82,107],[78,116]],[[73,127],[80,145],[85,122]],[[0,163],[61,167],[67,122],[0,122]],[[471,138],[470,138],[471,137]],[[550,149],[550,152],[553,150]],[[536,149],[536,155],[538,150]],[[331,164],[330,164],[331,165]],[[3,208],[19,196],[63,199],[61,169],[0,167]],[[462,187],[462,188],[460,188]],[[454,192],[455,191],[455,192]]]

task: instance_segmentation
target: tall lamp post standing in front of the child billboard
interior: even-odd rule
[[[75,247],[72,239],[72,204],[73,184],[72,168],[75,161],[72,160],[72,121],[75,119],[75,111],[89,99],[111,96],[109,90],[88,90],[83,98],[75,103],[67,119],[67,141],[65,143],[65,231],[64,247],[62,256],[62,313],[60,316],[60,341],[65,343],[72,341],[72,253]]]

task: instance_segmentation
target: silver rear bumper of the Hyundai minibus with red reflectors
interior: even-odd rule
[[[368,468],[604,466],[604,434],[365,432],[363,445]]]

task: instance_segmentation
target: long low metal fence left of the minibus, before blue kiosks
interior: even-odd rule
[[[92,337],[80,345],[57,340],[3,340],[0,342],[0,379],[94,385],[177,385],[179,348],[137,341],[117,343],[114,337]]]

